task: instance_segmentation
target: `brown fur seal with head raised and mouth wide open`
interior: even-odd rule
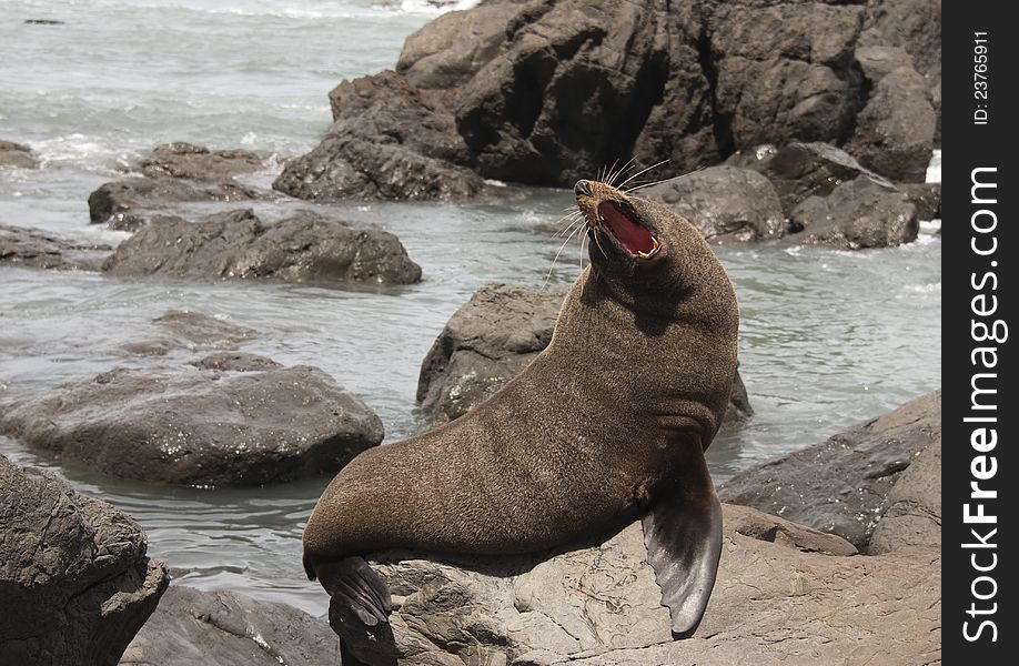
[[[319,500],[304,567],[341,624],[386,623],[363,555],[543,553],[640,516],[673,632],[700,622],[722,549],[704,450],[736,373],[736,294],[684,218],[597,181],[574,191],[591,264],[547,349],[465,416],[361,453]]]

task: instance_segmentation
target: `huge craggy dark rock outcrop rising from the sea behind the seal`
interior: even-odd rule
[[[471,188],[428,172],[568,186],[629,157],[684,173],[765,142],[850,140],[917,180],[940,108],[940,4],[926,2],[930,28],[907,17],[906,32],[898,0],[484,2],[407,38],[396,72],[337,87],[323,147],[276,186],[375,198],[387,170],[413,164],[424,173],[390,195],[444,199]],[[900,52],[898,69],[872,67],[875,49]],[[889,102],[896,85],[907,103]]]

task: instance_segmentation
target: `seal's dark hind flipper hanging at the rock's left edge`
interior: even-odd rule
[[[340,636],[344,666],[395,666],[396,643],[390,626],[393,602],[382,578],[363,557],[345,557],[314,567],[329,593],[329,625]]]

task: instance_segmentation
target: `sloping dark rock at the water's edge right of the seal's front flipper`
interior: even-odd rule
[[[718,495],[867,551],[904,470],[940,440],[941,392],[936,391],[824,444],[747,470],[723,484]]]

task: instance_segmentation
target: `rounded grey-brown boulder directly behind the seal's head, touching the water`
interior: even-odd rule
[[[786,221],[771,183],[749,169],[719,165],[644,188],[639,196],[664,203],[713,242],[781,238]]]

